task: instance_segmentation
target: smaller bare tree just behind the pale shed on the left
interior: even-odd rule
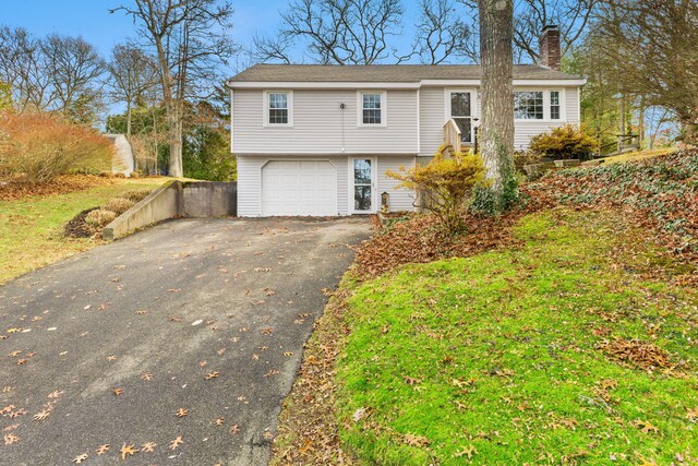
[[[111,52],[109,75],[112,98],[127,105],[127,134],[131,135],[133,107],[157,84],[157,64],[139,47],[119,44]]]

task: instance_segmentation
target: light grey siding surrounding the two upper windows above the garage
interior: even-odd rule
[[[356,91],[294,89],[293,127],[274,128],[262,124],[264,92],[236,89],[236,154],[417,154],[417,91],[389,89],[384,96],[387,126],[358,126]]]

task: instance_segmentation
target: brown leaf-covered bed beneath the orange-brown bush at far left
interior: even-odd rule
[[[68,194],[112,182],[110,177],[94,175],[63,175],[53,181],[38,184],[0,180],[0,201],[15,201],[35,195]]]

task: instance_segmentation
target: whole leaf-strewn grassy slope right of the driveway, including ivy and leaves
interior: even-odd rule
[[[501,218],[377,232],[275,465],[698,464],[698,152],[555,172]]]

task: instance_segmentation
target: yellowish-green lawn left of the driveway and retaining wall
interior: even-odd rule
[[[63,237],[80,212],[135,189],[155,189],[167,178],[117,179],[113,184],[40,198],[0,201],[0,283],[98,244]]]

